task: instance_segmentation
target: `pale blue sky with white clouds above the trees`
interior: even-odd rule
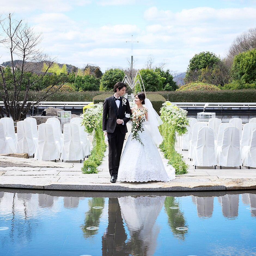
[[[0,13],[14,13],[42,32],[45,53],[57,62],[102,71],[126,68],[131,56],[143,68],[151,54],[155,64],[186,71],[201,51],[225,57],[234,38],[256,27],[256,1],[167,0],[26,0],[1,1]],[[0,48],[0,63],[10,56]]]

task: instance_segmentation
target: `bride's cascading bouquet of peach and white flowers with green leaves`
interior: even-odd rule
[[[133,111],[131,115],[132,119],[132,139],[136,139],[139,141],[142,145],[141,138],[138,135],[138,132],[144,131],[144,128],[142,126],[142,123],[145,121],[145,116],[144,116],[144,110],[138,109],[138,111]]]

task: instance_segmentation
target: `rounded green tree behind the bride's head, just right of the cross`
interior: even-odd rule
[[[145,87],[145,90],[148,92],[156,92],[156,91],[162,91],[163,90],[163,83],[166,80],[165,77],[161,77],[161,75],[159,74],[159,72],[155,72],[154,69],[140,69],[140,74],[141,74],[141,78],[143,80],[143,84]],[[142,81],[141,78],[139,76],[139,74],[137,75],[137,77],[135,78],[135,83],[137,80],[140,81],[141,86],[142,86]],[[143,87],[142,87],[143,90]],[[140,85],[137,83],[135,86],[135,92],[140,92],[141,91],[141,87]]]

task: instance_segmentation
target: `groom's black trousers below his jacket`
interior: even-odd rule
[[[118,173],[125,133],[121,133],[119,126],[113,133],[108,133],[108,168],[110,176]]]

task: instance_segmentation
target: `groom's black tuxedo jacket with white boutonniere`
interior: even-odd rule
[[[126,102],[124,102],[123,99],[126,100]],[[130,118],[125,117],[125,114],[131,114],[130,105],[127,99],[121,97],[120,105],[117,109],[114,95],[106,98],[103,103],[102,130],[113,133],[115,131],[115,127],[118,125],[121,133],[127,133],[126,123]],[[117,124],[117,119],[122,119],[124,124]]]

